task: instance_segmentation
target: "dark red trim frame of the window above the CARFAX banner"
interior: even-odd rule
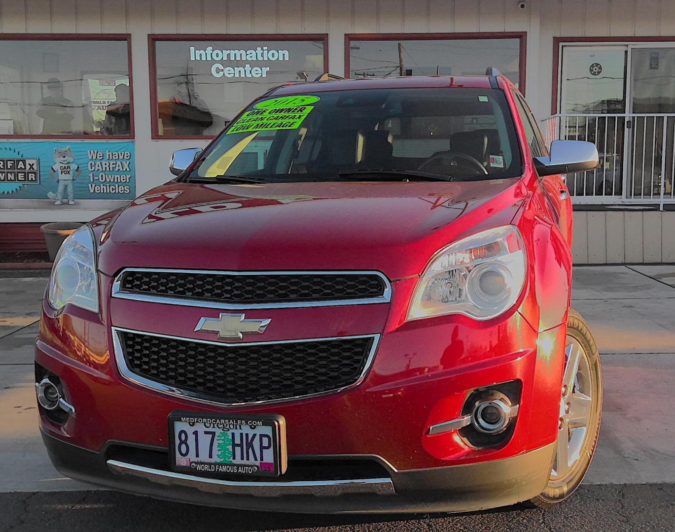
[[[134,140],[134,80],[132,79],[131,34],[128,33],[0,33],[3,40],[125,40],[129,69],[129,105],[131,108],[128,135],[0,135],[1,140]]]

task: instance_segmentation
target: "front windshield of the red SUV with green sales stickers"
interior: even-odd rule
[[[405,88],[261,100],[229,124],[188,179],[474,181],[521,173],[502,91]]]

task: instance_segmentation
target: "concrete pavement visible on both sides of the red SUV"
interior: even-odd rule
[[[0,278],[0,492],[91,490],[49,463],[32,348],[46,278]],[[675,482],[675,266],[574,270],[573,305],[603,361],[605,403],[586,483]]]

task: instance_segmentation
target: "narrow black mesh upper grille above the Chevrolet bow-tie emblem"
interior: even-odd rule
[[[375,272],[237,274],[125,270],[118,283],[118,293],[113,295],[138,294],[230,305],[353,301],[383,298],[387,293],[387,283]]]

